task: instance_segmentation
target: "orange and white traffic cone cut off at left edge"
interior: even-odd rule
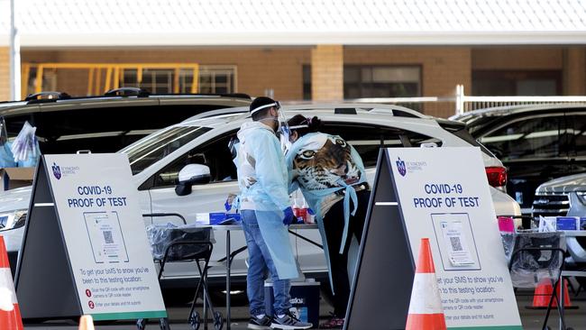
[[[0,236],[0,329],[23,330],[4,237]]]

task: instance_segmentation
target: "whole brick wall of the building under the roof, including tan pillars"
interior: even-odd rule
[[[23,62],[197,62],[237,67],[236,90],[252,96],[274,90],[280,100],[300,100],[302,71],[312,64],[314,99],[343,98],[343,64],[418,65],[422,68],[422,96],[453,96],[458,84],[472,93],[473,69],[558,69],[563,71],[565,94],[586,93],[586,55],[583,47],[240,47],[132,50],[23,50]],[[5,55],[4,55],[5,54]],[[0,96],[8,96],[8,50],[0,49]],[[5,68],[5,73],[3,68]],[[564,69],[565,68],[565,69]],[[58,89],[87,93],[87,74],[59,77]],[[104,81],[104,79],[102,79]],[[317,83],[319,82],[319,83]],[[3,85],[4,84],[4,85]],[[3,89],[4,88],[4,89]],[[453,103],[426,104],[428,115],[453,115]]]

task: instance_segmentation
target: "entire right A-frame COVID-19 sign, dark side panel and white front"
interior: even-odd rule
[[[428,238],[448,329],[520,330],[479,148],[381,149],[344,329],[404,329]]]

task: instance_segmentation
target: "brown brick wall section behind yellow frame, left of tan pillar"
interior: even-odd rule
[[[280,100],[303,97],[303,64],[310,62],[308,47],[200,48],[160,50],[24,50],[23,62],[186,63],[235,65],[236,90],[252,96],[273,89]],[[104,81],[104,79],[102,79]],[[87,73],[59,78],[59,89],[73,95],[87,93]]]

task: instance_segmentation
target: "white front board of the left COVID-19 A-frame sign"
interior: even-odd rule
[[[83,314],[167,317],[127,157],[44,160]]]

